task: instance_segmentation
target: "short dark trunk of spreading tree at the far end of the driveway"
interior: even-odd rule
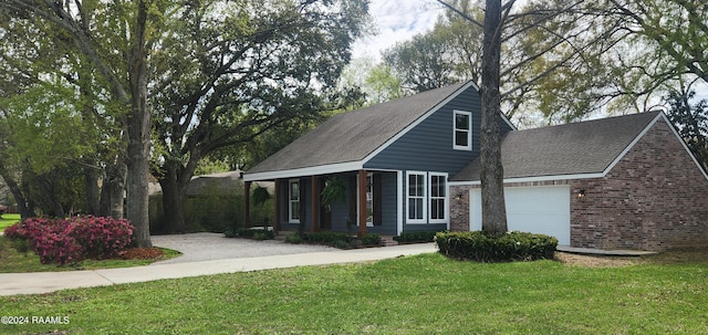
[[[168,168],[165,177],[159,180],[163,188],[163,209],[165,211],[165,222],[163,224],[166,233],[186,233],[185,222],[185,197],[187,185],[183,185],[177,178],[177,171]]]

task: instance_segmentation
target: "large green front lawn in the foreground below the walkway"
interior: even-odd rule
[[[0,333],[706,334],[707,290],[705,260],[593,269],[426,254],[0,297],[2,315],[70,321]]]

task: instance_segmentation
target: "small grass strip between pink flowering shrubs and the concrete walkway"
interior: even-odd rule
[[[22,272],[55,272],[95,270],[111,268],[129,268],[147,265],[157,260],[84,260],[76,264],[59,266],[56,264],[42,264],[39,255],[31,250],[20,252],[14,247],[17,243],[4,237],[0,237],[0,273],[22,273]],[[163,249],[165,254],[159,260],[167,260],[178,257],[180,253],[175,250]],[[2,310],[0,310],[2,312]],[[0,332],[2,334],[2,332]]]

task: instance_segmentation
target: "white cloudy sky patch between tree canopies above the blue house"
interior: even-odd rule
[[[433,29],[442,9],[433,0],[371,0],[368,10],[377,33],[354,44],[355,59],[381,59],[381,52],[396,42]]]

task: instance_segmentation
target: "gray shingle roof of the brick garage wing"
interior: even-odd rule
[[[501,143],[504,178],[603,172],[660,112],[509,132]],[[477,158],[451,181],[478,181]]]

